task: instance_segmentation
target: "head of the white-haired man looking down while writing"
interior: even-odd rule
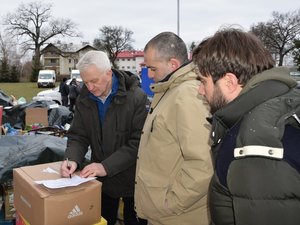
[[[107,55],[102,51],[89,51],[77,63],[80,76],[95,96],[106,97],[111,90],[112,70]]]

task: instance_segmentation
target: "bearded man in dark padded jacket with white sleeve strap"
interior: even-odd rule
[[[300,92],[253,34],[229,27],[194,50],[210,105],[215,225],[300,221]]]

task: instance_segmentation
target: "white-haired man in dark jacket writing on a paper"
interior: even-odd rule
[[[84,85],[76,100],[74,119],[68,130],[61,174],[75,170],[81,177],[97,176],[102,186],[102,216],[115,225],[119,201],[124,202],[125,225],[146,224],[134,210],[134,179],[141,131],[148,99],[136,76],[111,68],[102,51],[89,51],[77,68]],[[91,148],[91,163],[83,167]],[[83,167],[83,168],[82,168]],[[95,196],[97,197],[97,196]]]

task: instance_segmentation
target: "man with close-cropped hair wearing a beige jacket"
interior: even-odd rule
[[[209,112],[197,93],[194,64],[172,32],[152,38],[144,58],[155,84],[138,152],[138,216],[153,225],[208,225]]]

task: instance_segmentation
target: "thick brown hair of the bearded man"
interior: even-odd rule
[[[245,85],[255,74],[274,67],[275,61],[252,33],[226,28],[203,40],[193,51],[193,61],[202,76],[217,82],[233,73]]]

